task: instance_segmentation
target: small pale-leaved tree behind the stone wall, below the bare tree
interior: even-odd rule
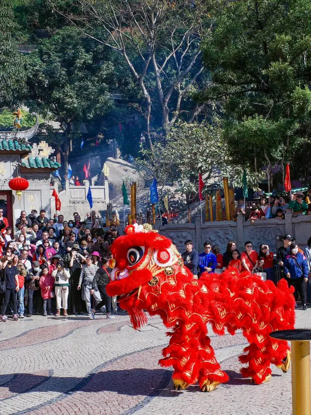
[[[145,179],[156,178],[159,183],[178,181],[178,192],[197,193],[198,175],[202,173],[206,189],[221,186],[223,177],[242,187],[243,167],[228,156],[222,130],[207,123],[178,122],[172,127],[166,144],[156,142],[152,149],[141,148],[143,160],[138,161],[140,174]],[[250,186],[257,187],[262,173],[247,172]]]

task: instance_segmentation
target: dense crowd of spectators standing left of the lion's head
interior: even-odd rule
[[[116,298],[105,286],[111,269],[110,247],[119,236],[116,226],[105,232],[93,211],[85,220],[78,212],[64,220],[46,211],[22,211],[15,228],[0,208],[0,321],[31,317],[87,314],[94,319],[101,310],[115,318]]]

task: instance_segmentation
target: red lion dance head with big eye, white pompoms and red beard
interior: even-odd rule
[[[135,328],[146,323],[142,298],[161,285],[170,275],[188,271],[176,247],[165,236],[152,230],[151,225],[128,225],[125,235],[117,238],[110,259],[111,282],[107,285],[110,296],[118,295],[120,307],[128,310]],[[159,283],[160,280],[160,283]],[[159,283],[159,284],[158,284]]]

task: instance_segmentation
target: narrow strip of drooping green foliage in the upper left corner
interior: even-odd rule
[[[24,86],[23,57],[12,38],[16,29],[11,0],[0,0],[0,105],[11,103],[17,90]]]

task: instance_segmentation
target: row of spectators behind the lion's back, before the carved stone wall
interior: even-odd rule
[[[221,273],[230,267],[234,267],[238,274],[248,271],[275,284],[278,278],[285,278],[288,285],[294,287],[296,307],[299,295],[303,310],[307,309],[307,304],[311,305],[311,237],[302,250],[291,235],[283,235],[283,246],[276,253],[266,243],[261,243],[257,252],[251,241],[245,242],[241,253],[234,241],[228,242],[223,254],[218,245],[212,245],[209,241],[205,241],[203,247],[204,252],[199,254],[190,239],[185,242],[186,251],[182,253],[182,258],[194,278],[200,278],[203,272]]]

